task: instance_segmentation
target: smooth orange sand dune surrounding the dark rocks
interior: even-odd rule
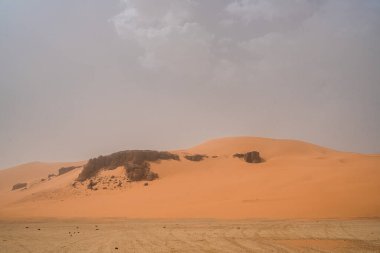
[[[248,164],[236,152],[258,150],[266,160]],[[207,154],[201,162],[162,161],[160,179],[124,183],[99,191],[72,187],[80,169],[23,191],[3,187],[43,169],[13,168],[0,174],[0,218],[352,218],[380,216],[380,156],[337,152],[312,144],[238,137],[188,150]],[[211,158],[211,156],[218,156]],[[37,166],[38,167],[38,166]],[[53,167],[52,167],[53,168]],[[18,170],[14,173],[14,170]],[[48,169],[46,169],[48,171]],[[122,176],[121,169],[113,172]],[[32,180],[32,174],[28,180]],[[107,176],[107,175],[103,175]],[[40,178],[41,174],[36,176]]]

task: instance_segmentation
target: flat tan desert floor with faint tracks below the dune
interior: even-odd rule
[[[0,252],[380,252],[380,220],[2,221]]]

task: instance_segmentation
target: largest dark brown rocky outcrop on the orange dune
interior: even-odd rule
[[[126,150],[107,156],[90,159],[83,167],[77,180],[85,181],[101,170],[112,170],[124,166],[131,181],[153,180],[157,174],[150,171],[149,162],[158,160],[179,160],[179,156],[169,152],[154,150]]]

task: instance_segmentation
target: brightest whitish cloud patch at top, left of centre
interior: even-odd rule
[[[214,38],[193,19],[193,2],[161,1],[157,9],[141,1],[125,4],[112,22],[121,37],[142,48],[140,66],[193,82],[208,75]]]

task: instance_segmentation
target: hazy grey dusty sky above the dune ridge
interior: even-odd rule
[[[221,136],[380,153],[378,0],[0,0],[0,168]]]

